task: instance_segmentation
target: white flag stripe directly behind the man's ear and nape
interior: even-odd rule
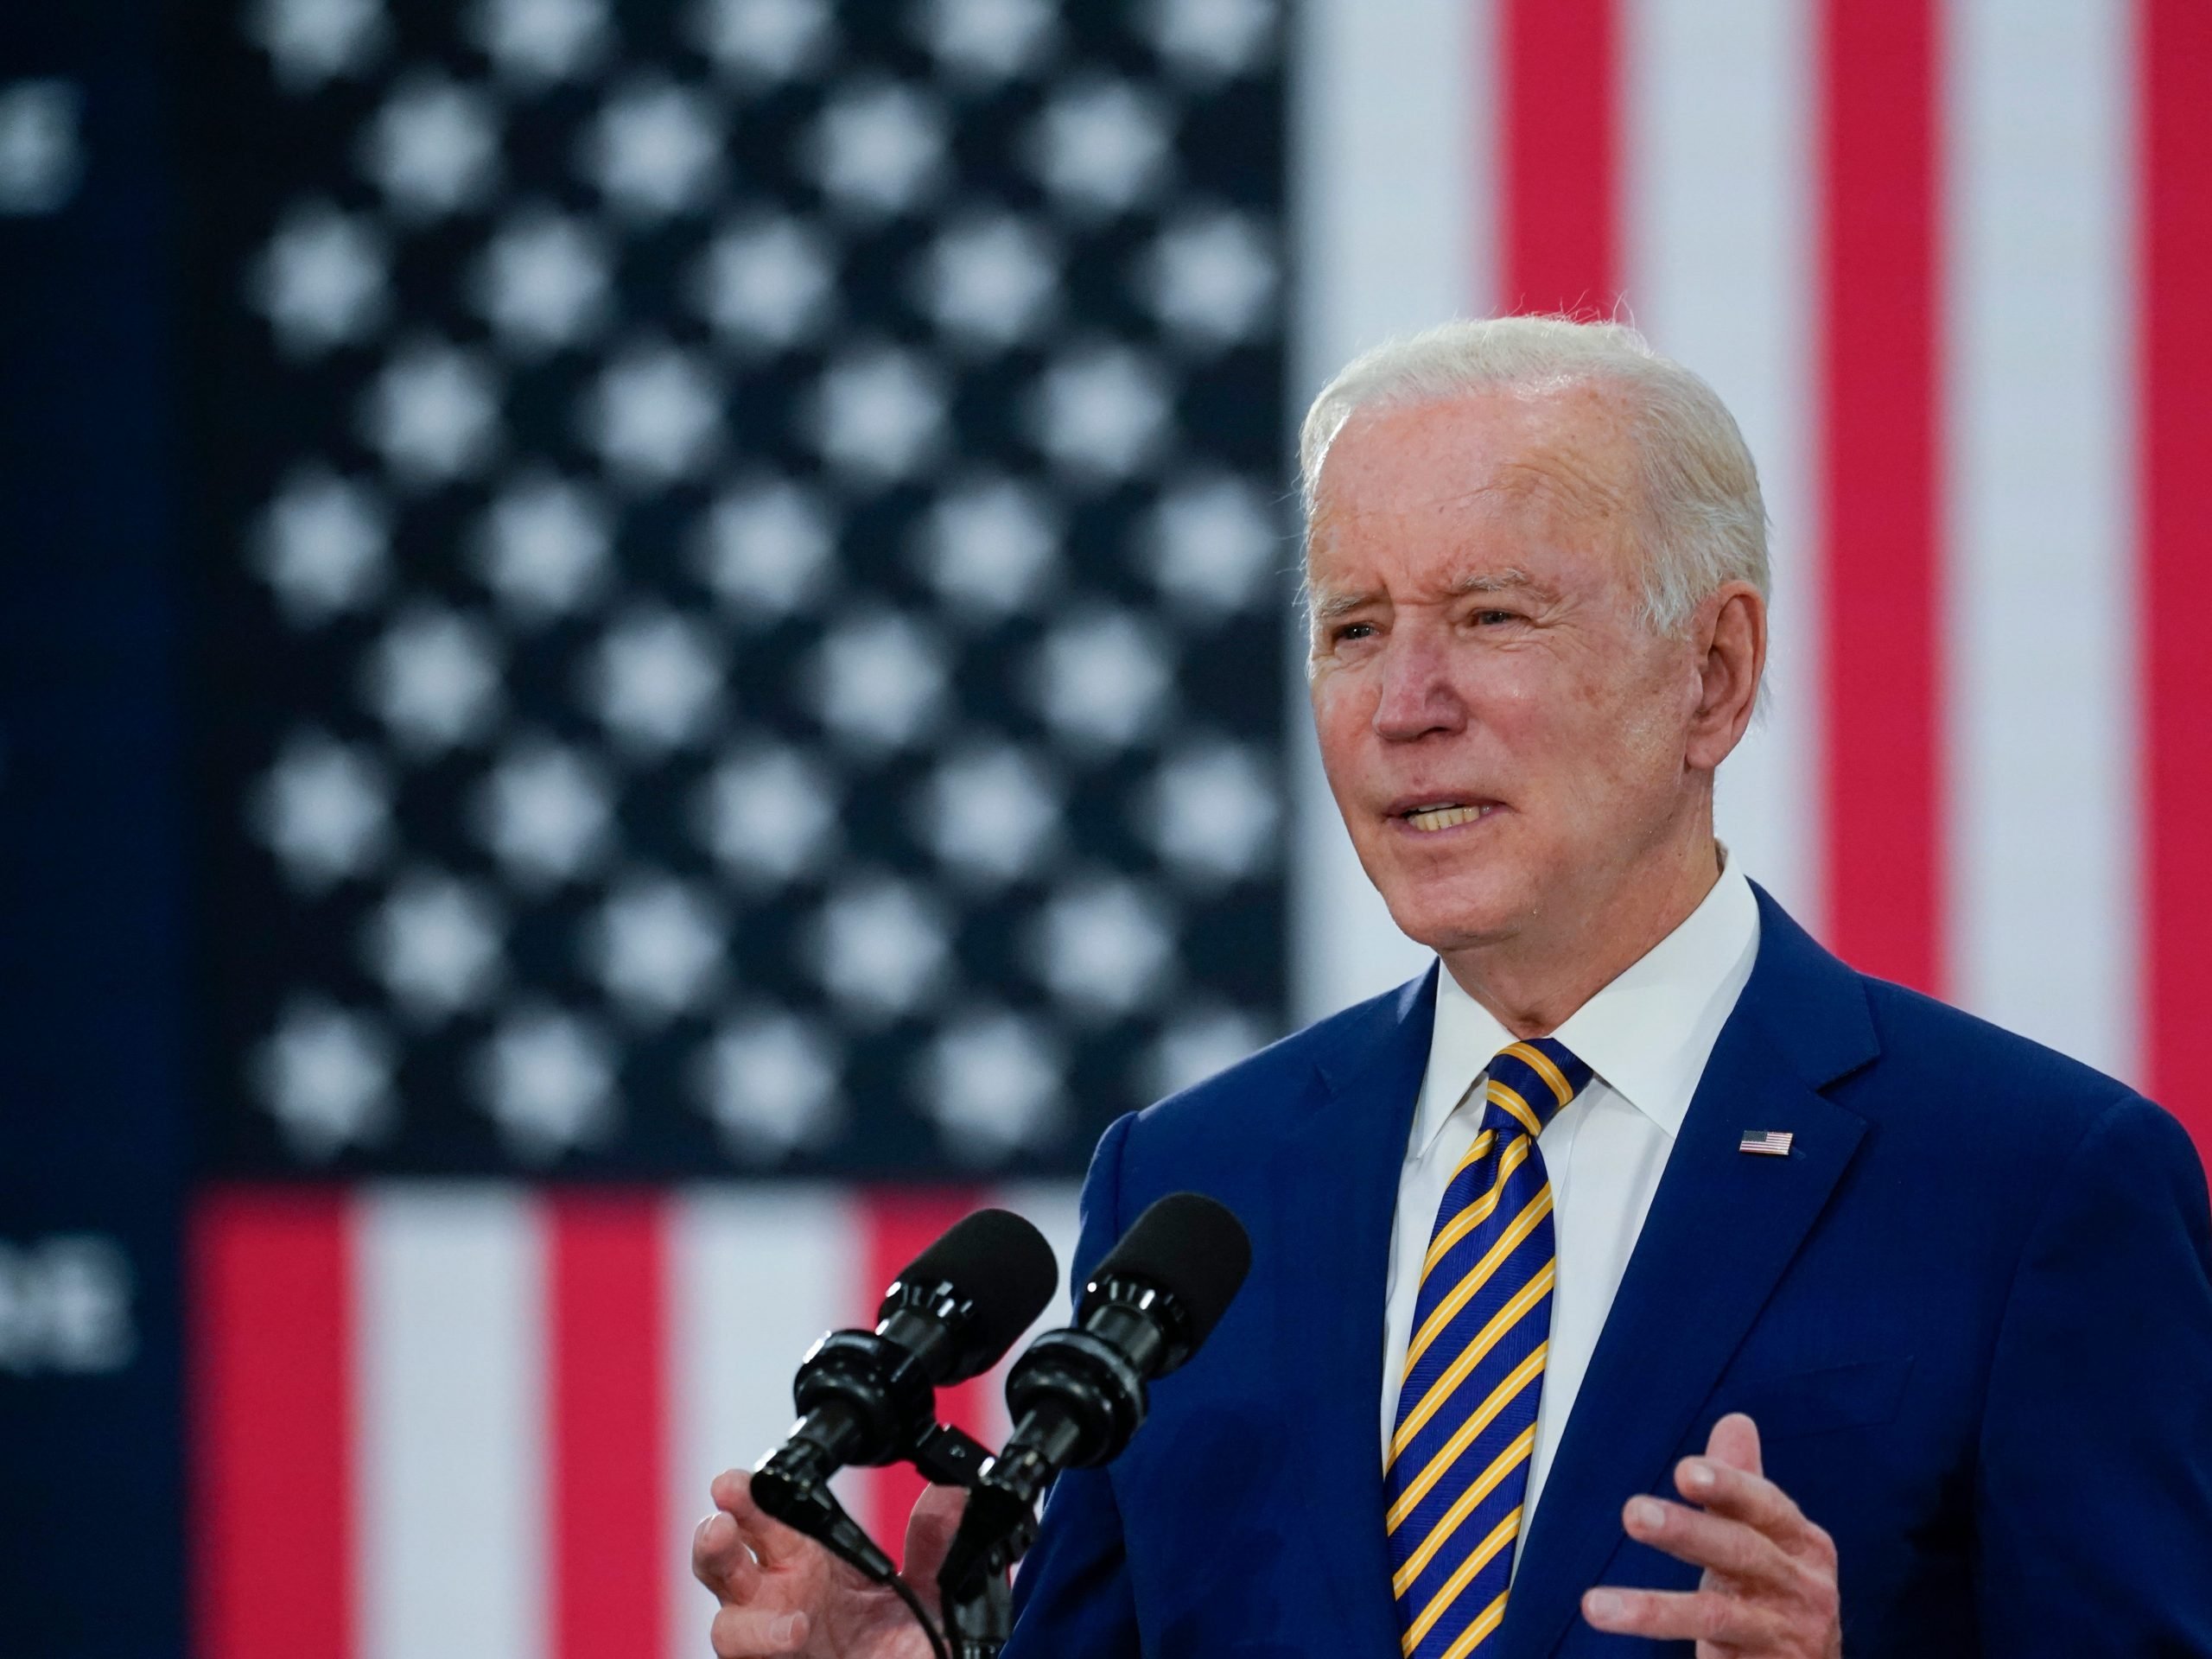
[[[1626,24],[1628,301],[1652,345],[1734,411],[1774,520],[1767,712],[1721,768],[1719,834],[1818,927],[1809,4],[1630,0]]]

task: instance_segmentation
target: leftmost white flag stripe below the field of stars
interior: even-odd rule
[[[354,1254],[361,1655],[544,1659],[544,1290],[531,1203],[487,1188],[372,1188]]]

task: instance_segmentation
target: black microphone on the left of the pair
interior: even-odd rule
[[[1011,1210],[978,1210],[909,1263],[872,1332],[830,1332],[792,1380],[799,1422],[752,1471],[752,1500],[869,1577],[891,1577],[830,1493],[845,1464],[914,1455],[936,1422],[936,1389],[998,1365],[1060,1283],[1044,1234]]]

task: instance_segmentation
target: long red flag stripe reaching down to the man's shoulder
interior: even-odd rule
[[[1827,0],[1829,945],[1927,991],[1944,978],[1938,49],[1933,0]]]

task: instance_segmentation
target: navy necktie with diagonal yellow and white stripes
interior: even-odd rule
[[[1383,1478],[1407,1659],[1482,1652],[1506,1613],[1557,1270],[1535,1137],[1586,1082],[1551,1037],[1502,1048],[1436,1212]]]

